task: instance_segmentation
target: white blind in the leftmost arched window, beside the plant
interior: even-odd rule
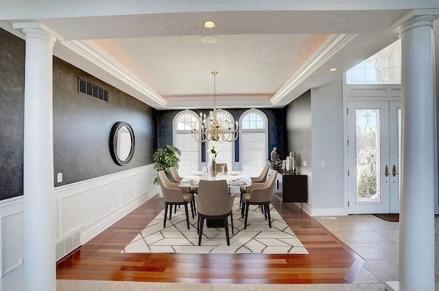
[[[175,146],[181,151],[178,174],[185,176],[197,172],[200,144],[193,140],[191,133],[176,133]]]

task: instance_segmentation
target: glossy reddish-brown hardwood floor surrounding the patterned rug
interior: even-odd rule
[[[156,195],[57,264],[57,279],[186,283],[352,283],[364,260],[292,204],[272,203],[309,255],[121,253],[165,204]]]

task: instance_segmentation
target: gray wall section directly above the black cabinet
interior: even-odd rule
[[[297,153],[297,165],[307,161],[311,168],[311,91],[308,90],[285,107],[287,149]]]

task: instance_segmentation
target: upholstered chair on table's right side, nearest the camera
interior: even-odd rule
[[[270,217],[270,203],[276,184],[277,173],[272,171],[267,180],[263,183],[255,183],[247,187],[247,192],[242,195],[241,217],[244,218],[244,229],[247,228],[248,209],[250,205],[259,205],[265,209],[265,220],[268,218],[268,225],[272,227]]]

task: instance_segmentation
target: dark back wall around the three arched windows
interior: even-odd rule
[[[235,118],[235,121],[239,121],[241,115],[250,108],[239,109],[226,109]],[[268,153],[267,159],[272,151],[273,147],[277,147],[279,152],[283,152],[283,110],[282,109],[265,109],[258,108],[268,118]],[[193,112],[209,115],[211,109],[195,109]],[[181,110],[160,110],[157,112],[157,146],[163,147],[166,144],[172,144],[172,126],[174,117]],[[238,153],[235,162],[239,162],[239,139],[235,142],[235,153]],[[202,153],[205,151],[202,150]]]

